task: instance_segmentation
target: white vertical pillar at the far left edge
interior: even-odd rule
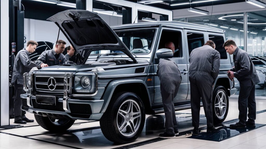
[[[0,126],[9,125],[9,0],[1,0],[1,102]]]

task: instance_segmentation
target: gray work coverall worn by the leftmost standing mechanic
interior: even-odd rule
[[[12,73],[11,84],[14,84],[14,117],[15,121],[25,118],[25,111],[20,109],[22,103],[20,94],[24,94],[23,90],[23,74],[30,72],[32,67],[37,67],[35,62],[31,61],[29,52],[25,49],[20,50],[15,58],[14,69]]]

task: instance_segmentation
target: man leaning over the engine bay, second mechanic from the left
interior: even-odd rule
[[[48,67],[54,65],[60,65],[65,63],[64,52],[66,42],[63,40],[58,40],[55,45],[55,49],[43,51],[39,58],[36,60],[36,65],[38,67]]]

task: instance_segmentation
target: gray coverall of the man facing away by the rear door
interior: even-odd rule
[[[209,45],[198,47],[190,54],[189,81],[191,95],[192,126],[199,127],[200,99],[207,119],[207,126],[213,126],[212,94],[213,84],[220,68],[220,53]]]

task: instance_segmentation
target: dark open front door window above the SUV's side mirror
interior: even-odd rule
[[[160,38],[160,43],[158,49],[168,48],[171,46],[171,42],[174,44],[174,55],[173,57],[181,58],[182,53],[182,36],[180,31],[174,30],[163,30]],[[165,47],[165,44],[168,43],[168,47]],[[170,45],[169,45],[170,44]]]

